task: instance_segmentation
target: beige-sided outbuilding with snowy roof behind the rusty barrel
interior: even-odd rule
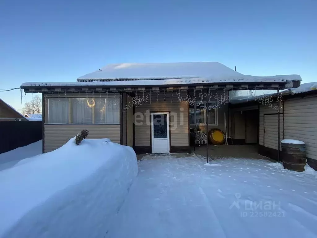
[[[268,100],[271,102],[269,107]],[[279,124],[276,94],[259,96],[256,99],[243,97],[231,102],[230,110],[235,113],[233,138],[247,143],[252,137],[248,133],[250,128],[256,130],[259,154],[272,159],[278,159],[279,141],[303,141],[306,144],[307,163],[317,170],[317,83],[304,83],[296,89],[282,91],[281,101]],[[251,118],[253,122],[250,122]],[[278,125],[280,139],[277,134]],[[281,151],[281,146],[279,149]]]

